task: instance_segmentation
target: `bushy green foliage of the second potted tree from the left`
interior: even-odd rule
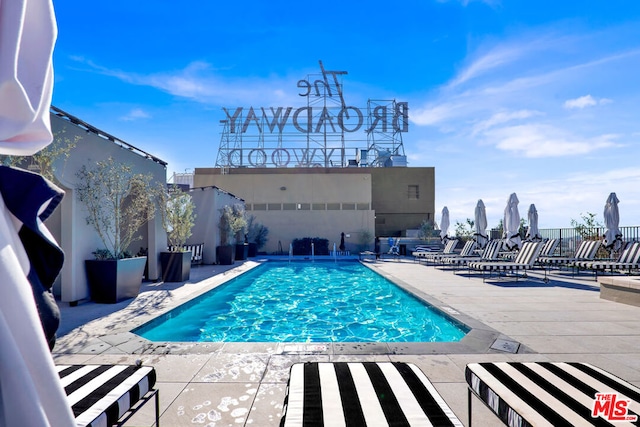
[[[189,193],[176,185],[161,188],[158,192],[162,227],[167,232],[170,251],[181,251],[195,225],[195,204]]]

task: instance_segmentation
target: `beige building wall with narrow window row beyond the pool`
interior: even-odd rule
[[[345,172],[347,171],[347,172]],[[320,237],[357,251],[370,235],[366,249],[373,247],[375,214],[371,208],[371,174],[362,169],[287,168],[231,169],[197,168],[194,186],[216,186],[246,203],[247,212],[269,228],[263,251],[288,252],[295,238]]]

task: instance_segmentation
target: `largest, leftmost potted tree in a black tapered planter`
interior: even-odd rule
[[[130,165],[113,158],[83,166],[76,174],[78,199],[87,210],[87,224],[104,248],[86,260],[91,298],[115,303],[140,292],[147,257],[132,257],[130,244],[141,238],[139,229],[155,214],[155,191],[151,175],[134,173]]]

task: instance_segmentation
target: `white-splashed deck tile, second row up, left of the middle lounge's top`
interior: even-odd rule
[[[202,366],[193,382],[253,382],[264,377],[269,354],[216,354]]]

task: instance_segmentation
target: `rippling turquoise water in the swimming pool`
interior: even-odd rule
[[[267,262],[133,332],[174,342],[452,342],[467,331],[357,262]]]

